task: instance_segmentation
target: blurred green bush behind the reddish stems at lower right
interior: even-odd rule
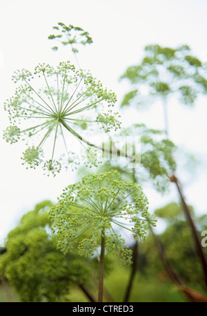
[[[190,207],[190,210],[195,217],[193,207]],[[169,203],[165,207],[155,210],[155,216],[166,221],[166,230],[159,234],[159,239],[164,246],[166,257],[173,270],[186,286],[204,290],[203,272],[195,250],[193,236],[188,223],[186,223],[181,206],[175,202]],[[196,221],[198,223],[197,230],[201,236],[201,231],[206,228],[206,216],[199,216]],[[206,250],[204,248],[207,255]],[[150,234],[147,243],[140,245],[140,251],[144,256],[144,265],[141,265],[140,268],[146,275],[159,275],[164,272],[164,266],[152,234]]]

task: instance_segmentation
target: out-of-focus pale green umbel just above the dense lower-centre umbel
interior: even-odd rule
[[[164,131],[149,129],[145,124],[133,124],[131,127],[121,129],[109,139],[107,144],[104,144],[104,149],[110,147],[115,150],[116,155],[107,154],[105,151],[103,163],[95,169],[96,172],[115,169],[126,183],[137,182],[143,185],[150,182],[159,192],[168,189],[168,177],[176,169],[173,155],[177,148],[166,138]],[[128,157],[121,156],[119,150],[128,156],[131,155],[134,162]],[[79,168],[80,178],[86,173],[88,169]]]

